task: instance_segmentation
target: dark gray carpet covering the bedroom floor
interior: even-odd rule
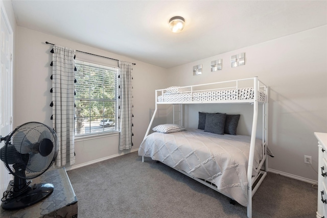
[[[67,172],[78,217],[247,217],[246,207],[137,152]],[[315,217],[312,184],[268,173],[252,198],[253,217]]]

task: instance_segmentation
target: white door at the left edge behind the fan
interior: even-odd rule
[[[12,131],[12,48],[13,33],[3,3],[1,3],[0,15],[0,134],[2,137],[7,136]],[[4,146],[1,142],[0,148]],[[11,180],[3,161],[0,161],[0,196],[7,189]]]

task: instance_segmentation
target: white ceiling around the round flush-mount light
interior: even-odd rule
[[[327,24],[327,1],[12,0],[12,5],[18,26],[165,68]],[[180,33],[168,27],[173,16],[185,19]]]

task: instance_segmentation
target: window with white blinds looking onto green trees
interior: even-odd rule
[[[75,60],[75,135],[118,131],[118,68]]]

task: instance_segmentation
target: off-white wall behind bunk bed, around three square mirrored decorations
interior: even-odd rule
[[[169,86],[194,85],[258,76],[270,87],[269,147],[275,157],[269,168],[299,179],[317,181],[317,173],[304,163],[312,156],[318,170],[314,132],[327,132],[327,30],[326,26],[256,44],[168,70]],[[223,34],[223,33],[222,33]],[[246,53],[246,64],[231,68],[230,57]],[[223,59],[222,70],[211,72],[211,61]],[[202,64],[202,75],[193,76],[193,66]],[[242,112],[242,105],[191,107],[191,111]],[[244,117],[252,116],[245,109]],[[190,114],[197,124],[197,114]],[[244,124],[240,133],[250,132]],[[193,126],[194,127],[194,126]]]

